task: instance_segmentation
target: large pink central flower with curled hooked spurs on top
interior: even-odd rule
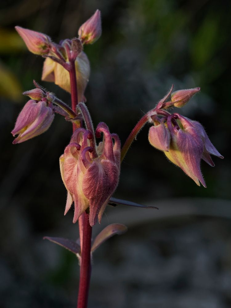
[[[75,203],[73,223],[89,207],[89,223],[99,223],[108,200],[117,187],[120,175],[120,140],[106,124],[99,123],[95,135],[103,141],[95,145],[94,136],[78,128],[60,157],[60,171],[67,188],[65,213]],[[95,149],[94,149],[95,148]]]

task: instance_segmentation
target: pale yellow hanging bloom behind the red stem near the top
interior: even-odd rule
[[[84,91],[90,75],[90,63],[87,55],[82,51],[75,60],[77,77],[78,100],[83,100]],[[69,72],[59,63],[47,58],[43,64],[42,80],[55,82],[59,87],[71,93]]]

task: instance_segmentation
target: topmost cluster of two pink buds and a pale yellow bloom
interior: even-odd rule
[[[90,63],[83,52],[83,44],[92,44],[100,37],[100,11],[96,10],[95,14],[80,26],[79,38],[65,39],[59,44],[53,43],[46,34],[19,26],[15,29],[30,52],[46,58],[43,64],[42,80],[54,82],[64,90],[71,92],[68,71],[71,70],[71,62],[75,64],[78,101],[81,101],[90,75]]]

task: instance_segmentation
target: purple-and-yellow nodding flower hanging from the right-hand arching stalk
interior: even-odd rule
[[[206,187],[201,173],[201,159],[214,166],[210,154],[223,158],[210,142],[202,125],[182,115],[173,114],[159,119],[152,117],[154,125],[148,138],[152,146],[164,151],[164,154],[179,166],[197,185]]]

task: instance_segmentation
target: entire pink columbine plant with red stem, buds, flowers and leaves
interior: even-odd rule
[[[73,223],[79,223],[77,242],[57,237],[45,237],[75,253],[79,259],[80,278],[78,308],[87,307],[91,275],[91,254],[114,234],[126,231],[121,224],[108,225],[91,241],[92,226],[101,222],[107,204],[140,206],[111,197],[119,182],[120,163],[132,141],[146,123],[150,144],[179,166],[197,185],[206,187],[201,173],[201,159],[214,166],[211,154],[223,158],[210,142],[203,126],[179,113],[171,114],[170,107],[183,107],[200,88],[178,90],[161,99],[136,124],[122,149],[119,137],[100,122],[94,130],[84,101],[84,90],[90,75],[90,64],[83,52],[84,44],[92,44],[101,35],[100,11],[88,19],[78,31],[78,38],[65,39],[59,44],[46,34],[15,27],[29,51],[45,58],[42,80],[55,82],[71,93],[71,107],[34,81],[35,88],[23,94],[30,100],[19,113],[12,131],[13,144],[21,143],[45,132],[55,113],[63,115],[73,126],[70,143],[60,156],[63,183],[67,189],[66,214],[74,203]],[[98,141],[101,140],[101,141]]]

